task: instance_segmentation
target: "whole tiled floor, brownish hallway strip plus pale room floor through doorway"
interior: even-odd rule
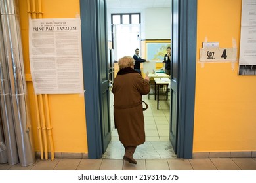
[[[135,151],[137,165],[123,161],[124,149],[112,117],[112,141],[101,159],[37,159],[27,167],[0,164],[0,170],[256,170],[256,158],[178,159],[169,142],[169,101],[161,98],[160,109],[156,110],[154,95],[150,100],[146,95],[143,100],[149,105],[144,112],[146,142]]]

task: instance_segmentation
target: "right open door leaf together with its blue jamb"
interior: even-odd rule
[[[197,0],[171,1],[169,137],[178,158],[192,159],[196,85]]]

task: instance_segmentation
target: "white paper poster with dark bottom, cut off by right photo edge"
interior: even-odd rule
[[[239,75],[256,75],[256,1],[242,1]]]

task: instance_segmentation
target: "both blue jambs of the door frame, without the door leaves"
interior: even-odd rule
[[[96,39],[96,1],[80,0],[81,39],[83,53],[83,84],[87,126],[88,158],[102,158],[100,129],[100,88]],[[196,27],[197,0],[179,1],[179,100],[177,157],[192,159],[194,133],[194,99],[196,85]],[[189,31],[188,31],[189,30]]]

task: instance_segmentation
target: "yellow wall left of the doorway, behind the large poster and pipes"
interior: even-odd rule
[[[37,3],[37,1],[36,1]],[[43,0],[41,1],[43,18],[75,18],[79,16],[79,0]],[[36,4],[37,6],[37,4]],[[32,8],[32,1],[30,7]],[[28,8],[27,2],[19,0],[20,24],[22,29],[22,46],[24,67],[27,78],[28,97],[32,120],[33,142],[35,151],[39,152],[37,135],[35,95],[30,78],[30,61],[28,47]],[[38,9],[36,9],[38,11]],[[55,152],[87,153],[87,133],[85,122],[85,103],[83,94],[49,95],[51,125]],[[48,140],[49,146],[49,140]]]

